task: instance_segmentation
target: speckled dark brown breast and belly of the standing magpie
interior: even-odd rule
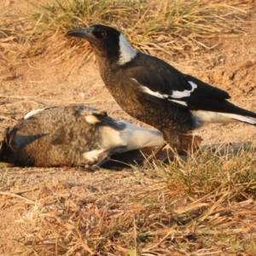
[[[195,120],[192,114],[184,108],[156,104],[145,96],[137,83],[125,79],[124,73],[110,72],[110,69],[101,69],[102,79],[119,106],[133,118],[142,121],[154,128],[165,130],[179,130],[182,132],[195,129]]]

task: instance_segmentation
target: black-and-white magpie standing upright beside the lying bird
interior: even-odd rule
[[[256,125],[256,113],[228,102],[227,92],[136,51],[113,27],[95,25],[67,34],[90,42],[102,79],[119,106],[162,131],[172,147],[179,145],[180,133],[206,122]]]

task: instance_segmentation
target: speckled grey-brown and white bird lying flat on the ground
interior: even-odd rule
[[[159,147],[160,131],[87,106],[40,108],[0,133],[0,161],[14,166],[79,166],[94,171],[113,154]]]

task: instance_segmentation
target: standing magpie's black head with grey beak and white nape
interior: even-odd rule
[[[137,55],[125,37],[111,26],[94,25],[74,29],[68,31],[67,34],[76,38],[84,38],[90,42],[96,55],[104,56],[108,61],[116,62],[120,66],[125,65]]]

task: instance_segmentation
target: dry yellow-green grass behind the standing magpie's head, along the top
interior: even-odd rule
[[[12,67],[27,57],[49,53],[56,60],[71,55],[85,42],[66,38],[69,29],[104,23],[118,27],[143,52],[170,60],[199,49],[212,49],[208,38],[247,36],[243,32],[252,0],[244,1],[82,1],[54,0],[33,4],[26,14],[1,14],[2,67]],[[14,16],[15,15],[15,16]],[[15,18],[15,19],[14,19]],[[15,22],[13,20],[16,20]]]

